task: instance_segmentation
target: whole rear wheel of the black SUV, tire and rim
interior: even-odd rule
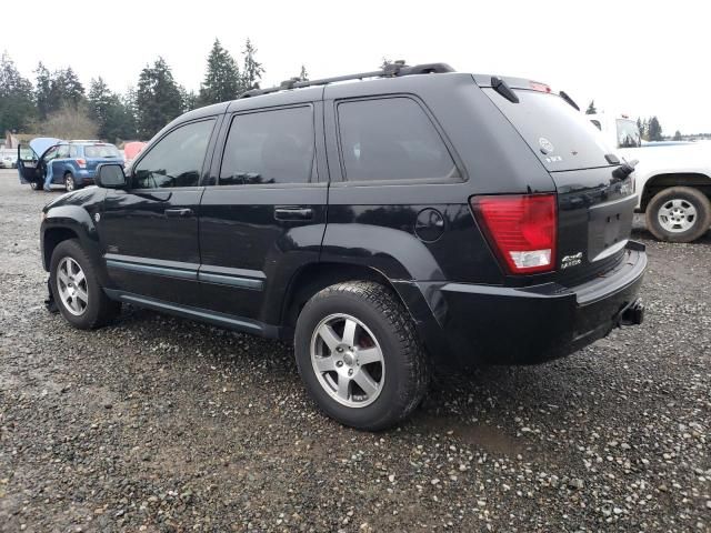
[[[379,283],[352,281],[317,293],[297,321],[294,352],[313,401],[352,428],[390,428],[427,392],[427,361],[412,320]]]

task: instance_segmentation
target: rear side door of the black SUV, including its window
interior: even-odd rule
[[[297,98],[226,117],[219,179],[200,204],[201,292],[211,309],[260,326],[278,322],[289,281],[318,261],[326,229],[322,103]]]

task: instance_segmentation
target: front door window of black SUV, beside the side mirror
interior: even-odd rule
[[[214,120],[182,125],[151,147],[133,170],[133,187],[158,189],[192,187],[200,171]]]

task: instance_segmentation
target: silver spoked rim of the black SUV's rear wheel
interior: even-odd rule
[[[350,314],[330,314],[311,336],[311,365],[319,384],[341,405],[373,403],[385,383],[385,361],[372,331]]]

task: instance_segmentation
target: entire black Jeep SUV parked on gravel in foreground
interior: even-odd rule
[[[127,302],[293,341],[323,411],[382,429],[431,364],[641,322],[633,167],[598,135],[565,93],[442,63],[252,90],[47,205],[50,290],[78,328]]]

